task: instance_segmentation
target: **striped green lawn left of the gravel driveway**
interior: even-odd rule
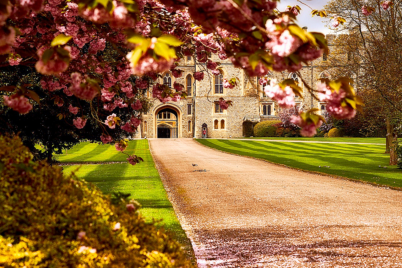
[[[135,153],[142,157],[144,162],[132,166],[127,163],[127,156],[117,152],[114,146],[89,142],[74,146],[64,155],[60,155],[58,160],[66,164],[64,173],[74,171],[78,177],[93,183],[105,194],[130,193],[130,198],[141,204],[142,208],[139,211],[146,220],[152,222],[155,219],[158,221],[156,225],[172,232],[175,238],[184,245],[189,257],[195,260],[191,242],[176,218],[155,168],[148,148],[148,140],[129,141],[129,147],[125,152],[130,155]]]

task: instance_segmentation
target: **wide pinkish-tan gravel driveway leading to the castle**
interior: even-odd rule
[[[402,268],[402,192],[191,139],[150,139],[150,147],[200,268]]]

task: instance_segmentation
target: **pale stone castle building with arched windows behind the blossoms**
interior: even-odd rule
[[[335,35],[327,35],[329,47],[334,38]],[[152,98],[152,93],[148,93],[153,106],[142,118],[143,138],[202,138],[203,129],[206,130],[207,138],[239,138],[242,137],[244,120],[256,122],[279,119],[277,103],[263,94],[258,78],[248,77],[242,69],[234,67],[230,60],[222,61],[214,54],[209,59],[221,62],[222,72],[219,75],[211,74],[207,71],[206,64],[195,63],[192,57],[178,62],[177,68],[183,70],[179,78],[174,78],[170,72],[162,74],[161,83],[169,87],[174,82],[184,85],[188,97],[178,102],[161,103]],[[317,108],[320,113],[325,109],[325,104],[312,97],[301,78],[315,89],[318,79],[327,75],[322,71],[326,60],[327,56],[324,54],[309,65],[303,65],[298,72],[274,71],[268,75],[278,82],[287,78],[298,81],[304,98],[296,97],[296,103],[304,105],[306,109]],[[204,71],[203,80],[194,80],[193,73],[197,71]],[[238,85],[233,89],[224,88],[223,79],[233,77],[238,78]],[[233,101],[233,106],[227,110],[220,109],[219,97]]]

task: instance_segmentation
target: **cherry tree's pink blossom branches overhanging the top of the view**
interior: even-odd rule
[[[142,103],[137,92],[148,87],[162,102],[185,98],[182,85],[170,89],[157,82],[166,70],[179,76],[176,62],[184,56],[194,56],[212,74],[220,66],[208,59],[209,53],[229,59],[249,76],[264,76],[271,69],[299,70],[301,63],[328,52],[323,34],[305,32],[297,25],[298,6],[279,12],[276,4],[276,0],[5,0],[0,4],[0,54],[3,65],[35,66],[46,75],[43,89],[59,96],[60,102],[76,98],[103,103],[108,115],[93,107],[90,115],[77,116],[71,124],[84,129],[91,116],[103,126],[102,140],[123,151],[124,142],[111,138],[108,130],[120,124],[123,130],[135,131],[140,118],[135,113],[122,121],[116,107],[136,110]],[[322,13],[313,10],[317,12]],[[109,46],[116,51],[113,60],[103,53]],[[203,76],[194,74],[197,80]],[[325,81],[322,92],[331,102],[328,112],[338,117],[352,116],[362,104],[351,87],[344,87],[345,79]],[[225,87],[234,82],[228,79]],[[7,90],[5,105],[20,113],[40,101],[29,86]],[[293,96],[302,93],[291,80],[267,85],[265,90],[284,107],[294,105]],[[219,105],[227,109],[231,102],[222,98]],[[75,111],[72,107],[70,113]],[[296,121],[303,131],[318,126],[322,118],[307,111]]]

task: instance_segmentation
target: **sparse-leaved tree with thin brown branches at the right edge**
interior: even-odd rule
[[[328,2],[328,16],[337,15],[346,21],[337,31],[348,34],[335,40],[326,70],[333,77],[353,78],[365,103],[363,115],[377,115],[385,123],[390,165],[395,165],[395,127],[402,119],[402,2],[394,1],[389,8],[384,8],[384,2]]]

